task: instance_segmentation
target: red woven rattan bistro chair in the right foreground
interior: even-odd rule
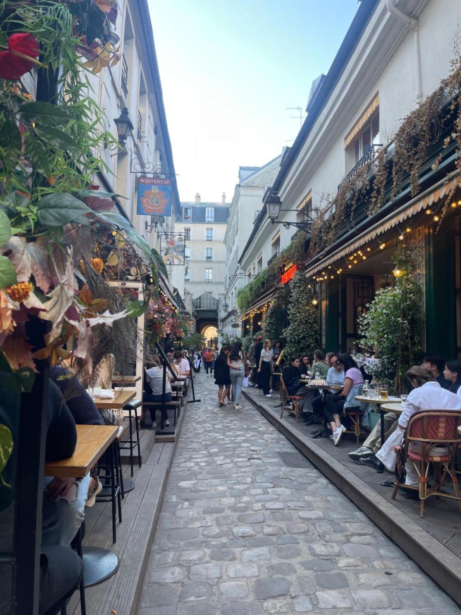
[[[455,454],[461,442],[457,427],[461,425],[461,411],[459,410],[422,410],[416,412],[409,420],[404,436],[403,446],[395,446],[397,453],[396,472],[398,475],[394,483],[392,499],[395,499],[399,487],[419,491],[420,517],[424,517],[424,504],[429,496],[455,499],[461,511],[461,495],[459,492],[455,472]],[[412,451],[409,445],[420,443],[421,452]],[[446,448],[446,454],[435,451],[436,446]],[[419,475],[419,485],[412,487],[403,482],[403,466],[412,463]],[[433,486],[428,488],[427,475],[430,464],[433,464]],[[455,495],[440,491],[446,477],[451,478]]]

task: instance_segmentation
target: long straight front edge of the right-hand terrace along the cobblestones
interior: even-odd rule
[[[428,576],[461,605],[461,560],[272,408],[242,391],[270,423],[384,531]]]

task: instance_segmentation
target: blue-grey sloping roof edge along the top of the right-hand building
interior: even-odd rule
[[[312,130],[315,121],[328,101],[329,96],[333,92],[342,71],[344,71],[353,50],[357,46],[357,43],[360,40],[360,37],[378,4],[379,0],[361,0],[357,13],[349,26],[349,30],[347,30],[347,33],[345,34],[345,37],[339,47],[339,50],[337,51],[336,56],[334,57],[333,63],[331,63],[325,79],[321,81],[320,85],[313,93],[313,99],[309,101],[309,114],[304,120],[301,130],[297,134],[293,146],[285,156],[280,172],[274,181],[274,186],[272,186],[273,192],[277,192],[282,185],[283,180],[285,180],[288,171],[291,169],[291,165],[296,159],[297,154],[299,154],[305,140],[309,137],[309,133]]]

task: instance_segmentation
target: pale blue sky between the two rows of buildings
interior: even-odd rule
[[[148,0],[179,197],[230,202],[293,145],[357,0]],[[293,118],[291,116],[297,116]]]

